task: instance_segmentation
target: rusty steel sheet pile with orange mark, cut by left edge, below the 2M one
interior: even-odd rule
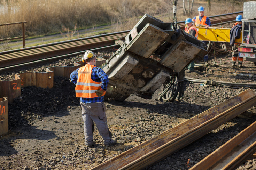
[[[8,97],[0,98],[0,135],[8,132]]]

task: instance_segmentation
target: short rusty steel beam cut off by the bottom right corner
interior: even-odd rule
[[[227,141],[190,170],[231,170],[239,167],[256,151],[256,122]]]

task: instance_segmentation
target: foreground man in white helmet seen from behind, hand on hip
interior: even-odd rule
[[[96,55],[86,51],[83,62],[87,64],[73,71],[70,79],[76,84],[76,97],[80,97],[82,117],[84,120],[85,146],[93,145],[94,122],[104,140],[104,145],[116,143],[108,129],[106,107],[103,103],[107,90],[108,76],[96,67]]]

